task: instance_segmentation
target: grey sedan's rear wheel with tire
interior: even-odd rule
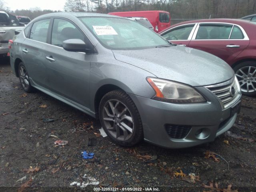
[[[22,62],[20,62],[20,64],[19,64],[18,74],[19,74],[19,78],[20,78],[20,84],[21,84],[23,90],[27,93],[34,92],[35,88],[31,86],[28,72]]]

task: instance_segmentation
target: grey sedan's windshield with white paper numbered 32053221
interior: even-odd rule
[[[109,49],[170,46],[167,40],[136,21],[111,17],[80,17],[79,19],[99,42]]]

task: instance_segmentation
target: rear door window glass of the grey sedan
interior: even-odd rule
[[[46,43],[49,24],[50,19],[34,22],[30,31],[30,39]]]

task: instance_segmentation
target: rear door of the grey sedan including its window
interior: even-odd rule
[[[48,80],[45,57],[50,22],[50,18],[34,22],[27,38],[22,42],[22,58],[28,74],[34,83],[43,87]]]

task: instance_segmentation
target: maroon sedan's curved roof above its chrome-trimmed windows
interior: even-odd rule
[[[222,22],[222,23],[233,23],[233,24],[238,24],[238,25],[247,25],[247,24],[252,24],[249,20],[244,20],[244,19],[200,19],[200,20],[190,20],[190,21],[184,21],[184,22],[180,22],[177,24],[174,24],[162,31],[160,31],[159,33],[162,33],[170,28],[173,28],[175,26],[180,26],[183,24],[190,24],[190,23],[199,23],[199,22]]]

